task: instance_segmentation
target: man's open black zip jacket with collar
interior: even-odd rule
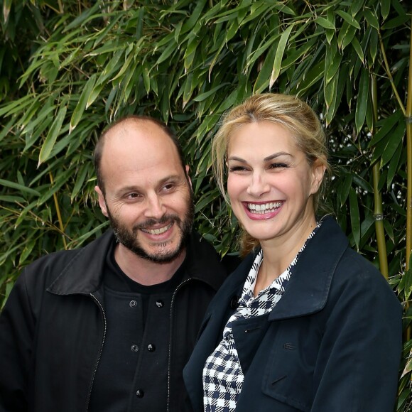
[[[102,273],[113,234],[29,265],[0,315],[0,411],[86,412],[104,345]],[[225,278],[215,250],[193,234],[170,311],[170,412],[186,411],[182,369]],[[115,379],[115,377],[113,378]],[[154,412],[154,411],[153,411]]]

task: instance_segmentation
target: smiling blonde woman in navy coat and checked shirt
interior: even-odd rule
[[[251,253],[185,368],[195,411],[393,411],[401,305],[332,217],[315,215],[328,170],[318,117],[296,97],[250,97],[212,156]]]

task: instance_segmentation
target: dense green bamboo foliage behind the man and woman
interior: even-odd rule
[[[0,305],[23,266],[106,229],[92,151],[104,126],[125,114],[156,116],[176,131],[197,229],[220,253],[236,251],[210,141],[227,109],[272,91],[297,94],[321,114],[334,167],[327,203],[352,247],[389,276],[408,327],[406,1],[0,5]],[[384,219],[375,224],[374,215]],[[407,329],[404,348],[398,411],[412,408]]]

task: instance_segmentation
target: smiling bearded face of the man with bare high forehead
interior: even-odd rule
[[[121,246],[158,263],[177,258],[193,225],[193,195],[169,136],[150,121],[115,126],[104,143],[99,204]]]

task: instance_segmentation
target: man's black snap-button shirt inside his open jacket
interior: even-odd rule
[[[166,411],[170,303],[185,263],[169,281],[143,286],[121,271],[114,246],[104,270],[107,332],[90,412]]]

